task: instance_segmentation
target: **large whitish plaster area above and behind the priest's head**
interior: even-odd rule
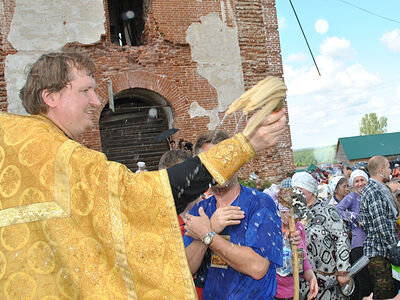
[[[104,14],[102,0],[16,0],[7,39],[18,53],[8,55],[5,62],[9,112],[25,113],[18,94],[26,64],[69,42],[99,41],[105,33]]]

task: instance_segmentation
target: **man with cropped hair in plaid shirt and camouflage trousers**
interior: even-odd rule
[[[388,259],[390,249],[398,243],[396,203],[385,183],[390,181],[390,164],[386,157],[373,156],[368,160],[370,179],[361,192],[360,222],[365,231],[363,254],[370,259],[368,271],[374,297],[394,297],[399,287],[392,278]]]

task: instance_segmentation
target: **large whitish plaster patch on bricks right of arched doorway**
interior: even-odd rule
[[[224,24],[218,13],[202,17],[186,31],[197,72],[218,94],[218,110],[223,112],[243,92],[243,70],[237,28]]]

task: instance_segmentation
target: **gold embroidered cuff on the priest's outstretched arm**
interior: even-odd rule
[[[203,165],[219,184],[224,184],[255,152],[249,141],[239,133],[199,154]]]

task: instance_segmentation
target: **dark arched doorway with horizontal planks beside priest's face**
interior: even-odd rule
[[[161,156],[169,150],[167,140],[155,142],[162,131],[172,126],[172,111],[159,94],[141,88],[114,95],[113,112],[107,104],[100,115],[103,153],[109,160],[137,170],[143,161],[148,170],[157,170]]]

